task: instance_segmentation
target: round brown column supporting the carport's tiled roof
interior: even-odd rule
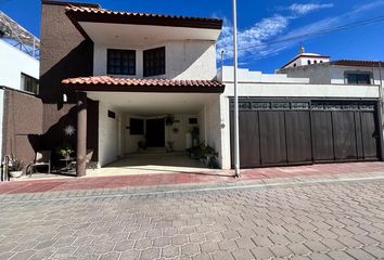
[[[77,92],[77,155],[76,174],[84,177],[87,172],[87,93]]]

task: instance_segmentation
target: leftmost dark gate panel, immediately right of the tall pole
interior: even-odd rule
[[[257,112],[239,113],[240,165],[255,167],[260,165],[260,144]]]

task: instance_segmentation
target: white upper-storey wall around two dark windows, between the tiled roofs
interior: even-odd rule
[[[153,78],[212,80],[216,76],[215,41],[209,40],[174,40],[144,48],[129,44],[94,44],[93,75],[107,75],[107,49],[136,51],[136,75],[113,75],[116,77],[143,78],[143,51],[165,47],[165,74]],[[149,77],[151,78],[151,77]]]

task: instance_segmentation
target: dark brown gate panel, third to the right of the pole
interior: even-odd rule
[[[285,113],[289,162],[310,162],[312,160],[309,119],[309,112]]]

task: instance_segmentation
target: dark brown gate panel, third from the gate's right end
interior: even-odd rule
[[[312,139],[315,161],[334,160],[331,112],[312,112]]]

